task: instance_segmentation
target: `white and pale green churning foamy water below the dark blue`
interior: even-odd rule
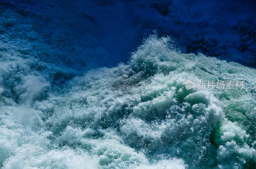
[[[156,35],[127,64],[81,76],[24,50],[0,53],[1,168],[255,167],[255,69]]]

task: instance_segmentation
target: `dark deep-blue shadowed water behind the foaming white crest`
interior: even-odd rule
[[[2,0],[1,11],[2,35],[44,43],[52,51],[38,57],[75,69],[125,63],[153,30],[184,53],[255,67],[254,1]]]

